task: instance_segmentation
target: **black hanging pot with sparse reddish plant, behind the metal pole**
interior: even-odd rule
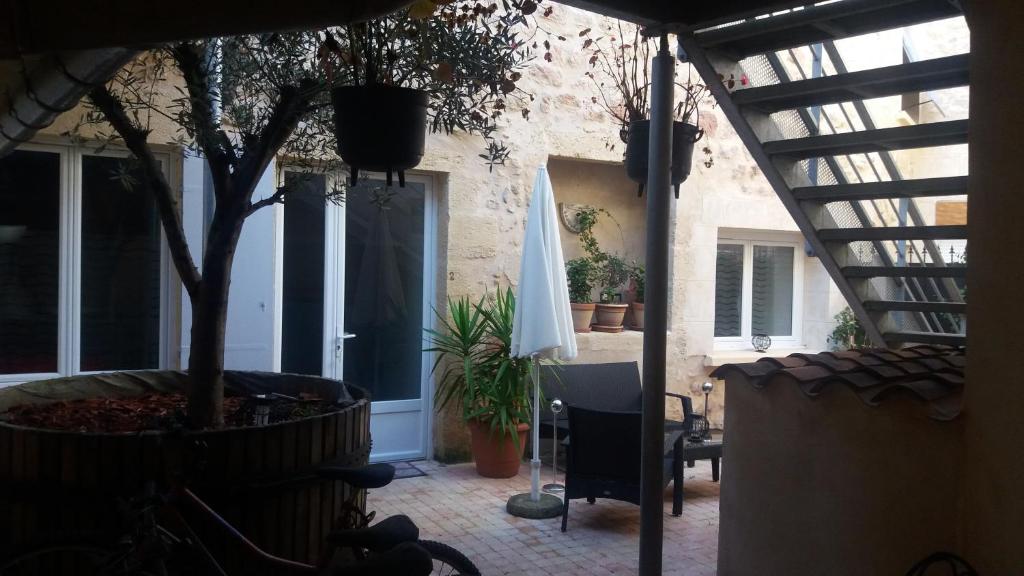
[[[597,87],[599,96],[592,101],[600,106],[621,125],[620,138],[626,143],[626,173],[639,182],[638,195],[643,195],[647,182],[648,137],[650,134],[650,86],[648,63],[653,52],[654,40],[645,38],[640,28],[632,24],[617,25],[615,31],[595,37],[591,29],[580,33],[583,48],[590,51],[587,72]],[[682,99],[675,107],[672,127],[672,183],[679,198],[679,187],[689,176],[693,159],[693,146],[703,136],[698,127],[699,105],[710,90],[693,80],[692,68],[686,82],[676,82],[682,90]],[[711,149],[703,148],[705,164],[711,167]]]

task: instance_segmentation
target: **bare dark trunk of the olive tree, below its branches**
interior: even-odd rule
[[[224,424],[227,296],[231,285],[231,263],[245,218],[238,214],[218,216],[214,216],[210,227],[203,257],[203,282],[200,283],[199,293],[191,299],[188,419],[193,428]]]

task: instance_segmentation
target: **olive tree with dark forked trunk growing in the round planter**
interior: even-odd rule
[[[500,22],[498,12],[478,4],[435,8],[432,14],[419,14],[426,16],[423,19],[412,17],[410,8],[365,25],[332,29],[331,37],[344,53],[346,46],[359,42],[357,30],[374,35],[376,81],[428,90],[435,130],[478,131],[486,137],[506,99],[517,91],[517,68],[530,55],[517,31],[526,28],[525,16],[536,4],[510,4],[509,11],[520,15]],[[349,30],[352,37],[347,36]],[[383,33],[387,39],[376,41]],[[420,35],[430,43],[417,41]],[[290,196],[290,187],[282,183],[259,198],[257,183],[280,156],[309,172],[338,166],[330,88],[365,82],[369,61],[357,61],[351,52],[352,61],[346,66],[325,66],[327,59],[339,57],[325,48],[327,43],[327,33],[319,31],[155,48],[110,83],[92,89],[87,112],[69,132],[81,138],[83,127],[90,125],[100,148],[122,141],[132,154],[133,173],[141,174],[138,188],[155,198],[172,263],[191,304],[187,419],[194,428],[224,423],[224,333],[243,224],[256,211],[285,203]],[[388,79],[390,74],[395,76]],[[170,95],[168,87],[175,90]],[[155,124],[161,122],[175,128],[172,141],[151,141]],[[197,151],[209,165],[215,203],[202,247],[202,271],[185,238],[178,193],[155,153],[155,145],[162,143]],[[328,191],[328,196],[340,202],[344,191]]]

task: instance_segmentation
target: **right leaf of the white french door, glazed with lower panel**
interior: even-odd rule
[[[345,200],[345,381],[370,390],[374,460],[422,458],[429,438],[430,181],[365,180]]]

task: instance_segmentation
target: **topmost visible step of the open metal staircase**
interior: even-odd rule
[[[735,59],[961,15],[949,0],[843,0],[698,32],[705,49]]]

